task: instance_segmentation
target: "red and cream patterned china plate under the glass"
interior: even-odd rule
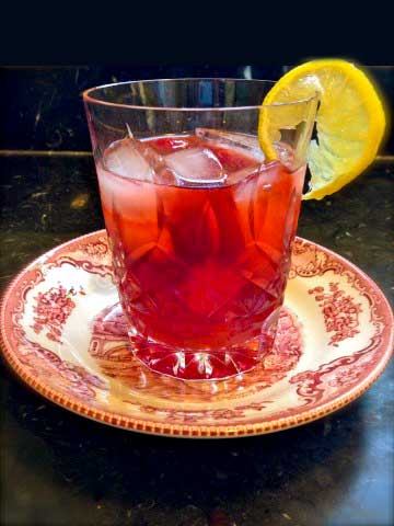
[[[187,382],[128,348],[104,230],[35,260],[2,297],[2,351],[33,389],[83,416],[158,435],[233,437],[324,416],[392,354],[392,310],[359,268],[298,238],[273,352],[251,373]]]

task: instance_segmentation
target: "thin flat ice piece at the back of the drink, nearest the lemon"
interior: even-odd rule
[[[257,137],[253,135],[235,134],[212,128],[196,128],[195,134],[200,139],[207,141],[207,145],[212,144],[212,146],[220,148],[240,149],[244,155],[259,162],[265,159]]]

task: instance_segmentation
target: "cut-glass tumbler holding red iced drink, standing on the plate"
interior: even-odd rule
[[[317,99],[263,106],[271,87],[173,79],[83,94],[130,352],[157,373],[228,378],[273,347]]]

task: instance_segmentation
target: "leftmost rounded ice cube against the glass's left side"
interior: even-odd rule
[[[132,138],[113,142],[104,153],[104,165],[107,170],[140,181],[152,182],[154,168],[161,162],[159,153]]]

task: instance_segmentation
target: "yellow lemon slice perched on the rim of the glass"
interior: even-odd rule
[[[357,178],[375,158],[385,129],[383,104],[363,71],[346,60],[312,60],[279,79],[263,102],[258,139],[268,160],[277,157],[273,142],[280,127],[300,118],[298,104],[277,108],[277,115],[269,105],[300,101],[316,92],[317,141],[308,148],[311,182],[304,199],[322,199]]]

